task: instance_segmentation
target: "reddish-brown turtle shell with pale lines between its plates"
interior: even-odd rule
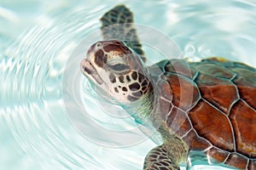
[[[162,126],[189,150],[256,169],[256,69],[217,58],[162,60],[156,67],[162,71],[156,80]]]

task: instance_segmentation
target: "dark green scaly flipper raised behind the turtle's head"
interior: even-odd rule
[[[137,32],[133,26],[133,16],[131,11],[124,5],[112,8],[102,16],[102,36],[104,40],[119,39],[124,41],[137,54],[146,61],[139,42]]]

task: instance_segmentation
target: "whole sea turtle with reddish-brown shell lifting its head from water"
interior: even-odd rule
[[[101,20],[104,41],[90,47],[81,71],[102,95],[137,111],[137,122],[147,120],[161,134],[164,143],[149,151],[144,170],[179,169],[190,150],[230,167],[256,169],[256,69],[217,57],[145,66],[131,11],[119,5]],[[137,41],[108,40],[122,29]]]

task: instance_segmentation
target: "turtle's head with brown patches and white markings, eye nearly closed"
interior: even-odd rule
[[[119,105],[138,101],[148,91],[143,61],[125,42],[96,42],[88,50],[80,68],[84,76],[96,85],[99,94]]]

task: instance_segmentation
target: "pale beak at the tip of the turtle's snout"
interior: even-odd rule
[[[88,59],[83,59],[80,63],[80,69],[85,77],[88,77],[91,81],[96,82],[98,85],[103,84],[102,78],[99,76],[94,65],[90,63]]]

